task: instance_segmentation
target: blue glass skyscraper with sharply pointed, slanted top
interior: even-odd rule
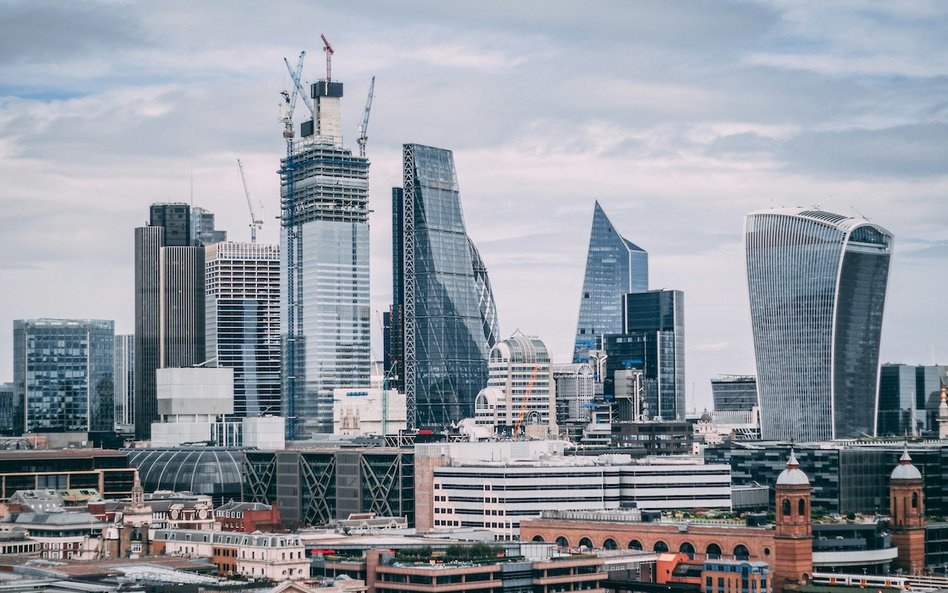
[[[602,206],[593,210],[573,362],[589,362],[603,334],[622,331],[622,295],[648,290],[648,253],[616,231]]]

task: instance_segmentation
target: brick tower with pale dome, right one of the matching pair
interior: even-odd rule
[[[922,574],[925,569],[922,473],[912,463],[907,448],[889,479],[889,516],[892,543],[899,549],[895,567],[908,574]]]

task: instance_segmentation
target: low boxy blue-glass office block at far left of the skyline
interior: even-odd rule
[[[13,322],[13,383],[23,432],[112,432],[115,324]]]

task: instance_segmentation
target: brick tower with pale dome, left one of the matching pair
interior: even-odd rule
[[[774,534],[774,591],[789,583],[806,583],[813,574],[813,524],[810,480],[793,451],[776,485],[777,526]]]

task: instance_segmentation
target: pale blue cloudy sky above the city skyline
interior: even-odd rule
[[[0,381],[13,320],[134,331],[133,229],[191,201],[275,241],[283,58],[320,33],[355,148],[369,80],[373,319],[401,146],[454,151],[501,333],[567,361],[596,200],[685,293],[689,409],[753,374],[742,227],[818,206],[895,235],[882,362],[948,364],[948,4],[0,0]],[[298,105],[301,116],[303,106]],[[375,324],[378,325],[378,324]],[[381,356],[380,331],[373,351]]]

